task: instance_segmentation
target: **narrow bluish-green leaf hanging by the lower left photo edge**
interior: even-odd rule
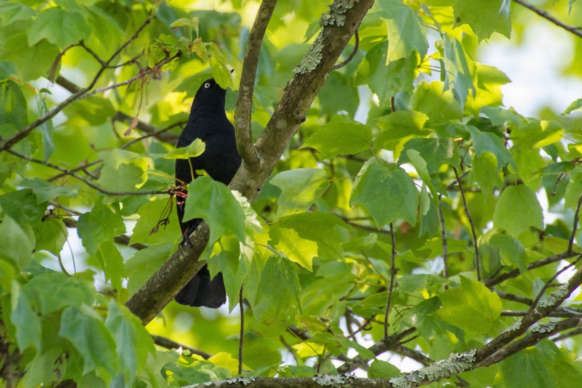
[[[42,350],[40,319],[31,307],[29,298],[26,297],[16,282],[12,283],[12,312],[10,321],[16,328],[16,343],[19,350],[24,351],[29,346],[34,346],[38,352]]]

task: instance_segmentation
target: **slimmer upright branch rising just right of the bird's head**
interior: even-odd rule
[[[235,129],[236,146],[243,162],[249,168],[258,165],[259,158],[253,144],[251,131],[251,112],[253,111],[253,90],[257,77],[258,56],[261,52],[262,38],[265,35],[269,20],[277,0],[263,0],[258,9],[253,28],[247,41],[247,49],[244,53],[243,72],[240,76],[239,97],[236,100]]]

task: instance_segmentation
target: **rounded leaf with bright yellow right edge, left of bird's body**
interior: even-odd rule
[[[124,149],[108,149],[97,153],[104,166],[97,183],[106,190],[135,191],[147,180],[148,162],[134,152]]]

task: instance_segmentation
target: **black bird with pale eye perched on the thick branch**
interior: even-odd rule
[[[226,118],[226,90],[218,86],[213,78],[204,81],[198,88],[188,123],[178,139],[177,147],[186,147],[194,139],[204,141],[206,148],[202,155],[187,159],[176,159],[176,184],[188,184],[198,175],[196,170],[205,170],[212,179],[226,185],[230,183],[239,169],[242,159],[236,148],[235,127]],[[190,243],[188,236],[202,222],[192,219],[182,222],[184,216],[184,198],[176,197],[176,209],[182,236]],[[176,295],[176,302],[193,307],[218,308],[226,302],[226,291],[222,273],[210,280],[207,266],[204,266],[186,286]]]

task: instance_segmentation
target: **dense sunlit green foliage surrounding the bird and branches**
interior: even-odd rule
[[[255,138],[330,1],[277,4],[258,60]],[[501,87],[510,82],[503,69],[475,61],[489,38],[519,42],[526,25],[546,23],[509,3],[378,0],[359,28],[359,51],[330,74],[252,204],[210,179],[190,187],[205,193],[190,196],[186,209],[211,227],[203,258],[211,273],[223,273],[229,308],[171,302],[143,328],[123,302],[181,236],[173,198],[139,192],[175,184],[172,158],[180,155],[172,149],[205,79],[229,88],[232,119],[258,2],[0,0],[3,140],[97,74],[94,88],[107,89],[66,106],[13,152],[0,152],[0,377],[19,387],[66,379],[179,387],[230,378],[239,344],[232,311],[243,283],[251,376],[336,373],[341,355],[371,358],[362,343],[384,336],[393,272],[388,330],[416,328],[410,349],[438,360],[508,328],[516,318],[502,311],[529,307],[479,280],[517,269],[519,276],[495,288],[548,297],[566,261],[528,264],[567,250],[582,194],[581,100],[564,106],[563,116],[521,116],[503,105]],[[537,5],[582,24],[573,1]],[[572,40],[565,72],[582,77],[582,39],[560,32]],[[201,151],[194,148],[188,152]],[[580,299],[567,306],[580,307]],[[213,357],[156,347],[149,333]],[[545,340],[462,376],[474,387],[573,386],[582,378],[573,361],[582,342],[558,346]],[[377,359],[367,375],[398,373]]]

